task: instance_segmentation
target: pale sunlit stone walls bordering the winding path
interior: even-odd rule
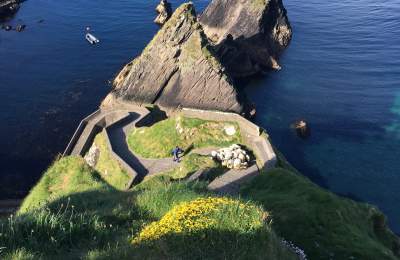
[[[108,149],[115,160],[131,175],[131,180],[127,184],[127,188],[130,188],[138,177],[138,173],[130,165],[127,164],[114,150],[112,142],[110,141],[109,128],[114,124],[126,119],[130,116],[130,113],[137,113],[141,115],[138,120],[145,120],[148,116],[149,111],[143,107],[133,106],[122,106],[121,109],[110,108],[110,109],[99,109],[94,113],[84,118],[77,130],[75,131],[71,141],[64,151],[63,156],[68,155],[81,155],[89,150],[93,143],[95,136],[105,131],[106,141]],[[239,125],[241,135],[243,138],[243,144],[251,148],[257,157],[257,164],[260,169],[270,169],[275,167],[277,162],[276,154],[270,144],[268,137],[262,134],[262,130],[256,124],[250,122],[244,117],[235,113],[226,113],[218,111],[206,111],[183,108],[180,113],[185,117],[199,118],[209,121],[219,122],[235,122]]]

